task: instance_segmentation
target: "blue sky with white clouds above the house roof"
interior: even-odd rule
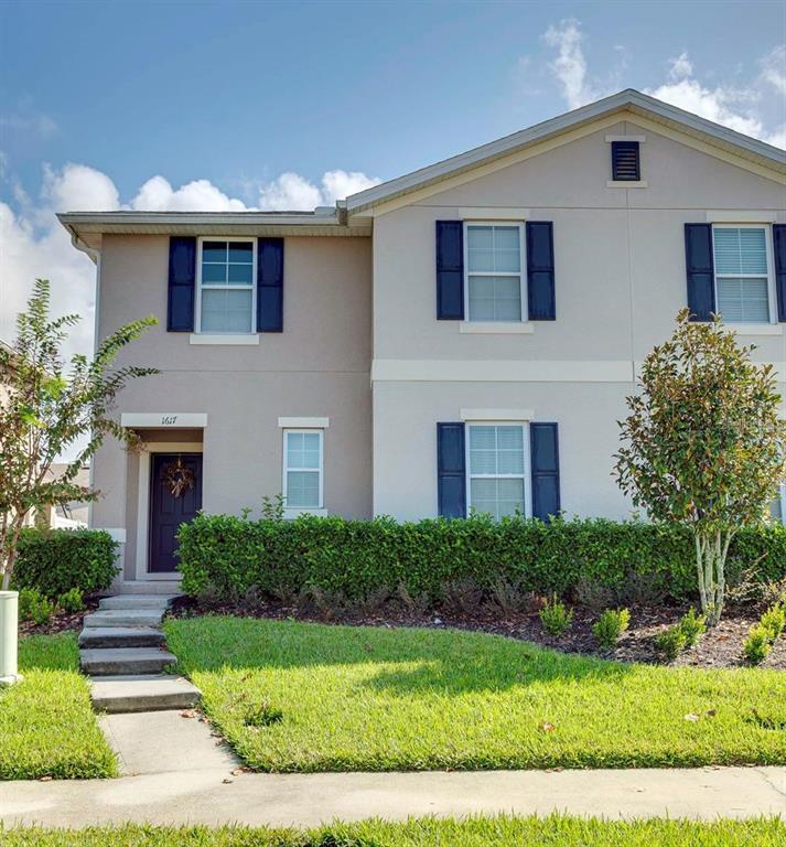
[[[54,211],[332,203],[624,87],[786,146],[784,44],[783,0],[6,0],[0,336],[33,276],[91,308]]]

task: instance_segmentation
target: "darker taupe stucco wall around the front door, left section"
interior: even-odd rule
[[[324,505],[372,514],[370,239],[292,237],[284,245],[284,332],[259,346],[197,346],[168,333],[166,237],[106,236],[101,251],[99,336],[153,314],[159,325],[122,362],[155,366],[132,383],[115,414],[204,412],[203,506],[255,514],[282,487],[279,417],[329,417]],[[146,433],[157,439],[155,433]],[[181,433],[182,435],[182,433]],[[107,443],[95,460],[104,496],[91,523],[125,529],[127,577],[136,553],[138,459]]]

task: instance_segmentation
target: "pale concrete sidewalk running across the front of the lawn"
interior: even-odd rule
[[[786,817],[786,768],[240,774],[227,766],[117,780],[0,783],[0,822],[315,826],[334,818],[552,811],[610,818]]]

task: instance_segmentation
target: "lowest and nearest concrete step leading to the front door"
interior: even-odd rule
[[[110,715],[191,709],[202,697],[187,679],[165,674],[99,677],[90,682],[90,694],[96,711]]]

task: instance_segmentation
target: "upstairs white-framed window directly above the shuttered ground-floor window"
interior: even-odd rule
[[[527,320],[524,244],[523,223],[464,223],[467,321]]]

